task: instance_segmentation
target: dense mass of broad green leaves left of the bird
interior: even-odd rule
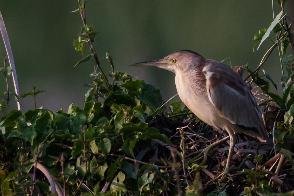
[[[161,94],[155,86],[133,81],[125,73],[112,74],[120,84],[116,83],[113,91],[108,92],[98,85],[103,104],[86,101],[83,110],[71,105],[67,113],[35,109],[23,114],[12,110],[2,117],[0,164],[4,169],[0,172],[4,195],[26,193],[32,185],[49,193],[49,185],[41,182],[41,174],[35,180],[29,175],[36,161],[50,168],[58,181],[65,178],[68,195],[77,192],[80,195],[78,179],[94,187],[94,192],[101,191],[100,185],[111,182],[109,194],[162,193],[162,184],[153,181],[168,184],[173,180],[172,171],[166,173],[156,165],[145,164],[136,172],[126,160],[152,148],[151,139],[172,145],[165,135],[145,122],[146,115],[159,107]],[[97,80],[102,83],[100,77]],[[86,99],[92,93],[87,93]],[[143,174],[145,170],[149,172]]]

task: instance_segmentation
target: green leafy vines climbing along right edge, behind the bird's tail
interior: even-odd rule
[[[275,37],[275,41],[273,41],[273,46],[269,48],[269,50],[265,53],[260,66],[255,71],[251,71],[248,66],[245,68],[249,72],[251,76],[251,82],[255,83],[260,87],[260,89],[263,91],[263,93],[267,94],[270,99],[264,101],[260,105],[266,105],[269,104],[270,101],[274,101],[280,112],[285,113],[283,119],[277,119],[280,112],[277,114],[277,120],[282,120],[280,122],[276,122],[277,129],[275,130],[274,136],[275,141],[277,144],[278,151],[285,151],[285,149],[290,149],[290,145],[288,144],[287,140],[291,140],[294,138],[293,134],[293,128],[292,128],[292,121],[294,116],[294,90],[293,88],[293,74],[294,74],[294,56],[293,54],[290,54],[287,56],[287,48],[290,45],[290,27],[287,24],[286,20],[286,14],[283,14],[283,6],[286,1],[279,1],[277,0],[277,3],[281,6],[282,10],[280,13],[275,17],[273,22],[270,24],[268,29],[261,29],[254,35],[254,38],[252,39],[252,46],[253,51],[255,48],[255,44],[259,43],[258,48],[260,48],[263,41],[266,39],[270,39],[270,36]],[[275,89],[277,90],[277,85],[274,83],[272,78],[265,73],[263,70],[263,75],[259,76],[256,71],[263,65],[263,63],[266,61],[268,56],[271,54],[273,49],[278,46],[279,54],[280,54],[280,64],[282,68],[282,77],[281,77],[281,86],[283,89],[282,96],[278,95],[277,93],[270,92],[270,83],[273,84]],[[257,50],[258,50],[257,48]],[[293,50],[293,49],[292,49]],[[286,72],[284,73],[284,69]],[[266,77],[268,81],[263,79],[262,77]],[[270,83],[269,83],[270,82]],[[289,153],[286,153],[289,154]],[[290,159],[291,160],[291,156]]]

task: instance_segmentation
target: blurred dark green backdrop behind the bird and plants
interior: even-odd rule
[[[280,6],[276,2],[274,6],[277,15]],[[37,107],[67,111],[73,103],[83,108],[83,96],[88,90],[83,85],[91,83],[89,74],[93,71],[93,63],[73,67],[82,58],[72,46],[73,39],[78,38],[82,21],[78,12],[69,12],[77,8],[78,3],[74,0],[0,1],[20,94],[31,91],[34,82],[37,89],[46,91],[37,96]],[[290,9],[288,3],[286,9]],[[258,51],[252,53],[254,34],[259,29],[268,28],[273,21],[271,1],[89,0],[86,19],[88,25],[92,24],[100,32],[95,38],[100,59],[106,52],[110,53],[116,71],[127,72],[156,85],[164,100],[176,94],[174,73],[155,67],[128,65],[188,49],[204,58],[218,61],[227,58],[224,62],[232,66],[249,63],[254,69],[272,44],[266,40]],[[3,41],[0,43],[0,58],[3,59],[6,51]],[[84,54],[88,53],[85,44]],[[106,73],[110,72],[107,61],[103,60],[102,67]],[[263,69],[278,84],[280,91],[277,50]],[[1,91],[5,87],[1,75]],[[11,81],[10,88],[14,89]],[[24,112],[34,108],[33,97],[20,100]],[[10,106],[10,109],[16,108],[13,101]]]

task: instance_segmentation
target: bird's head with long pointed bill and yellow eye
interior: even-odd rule
[[[130,66],[156,66],[172,72],[188,71],[198,68],[205,59],[198,53],[190,50],[181,50],[172,53],[163,59],[135,63]]]

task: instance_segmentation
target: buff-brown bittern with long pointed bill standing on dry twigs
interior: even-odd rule
[[[229,172],[236,133],[250,135],[261,142],[269,138],[250,88],[226,64],[205,59],[194,51],[181,50],[163,59],[131,66],[156,66],[174,72],[178,96],[189,110],[203,122],[228,132],[230,148],[223,177]]]

